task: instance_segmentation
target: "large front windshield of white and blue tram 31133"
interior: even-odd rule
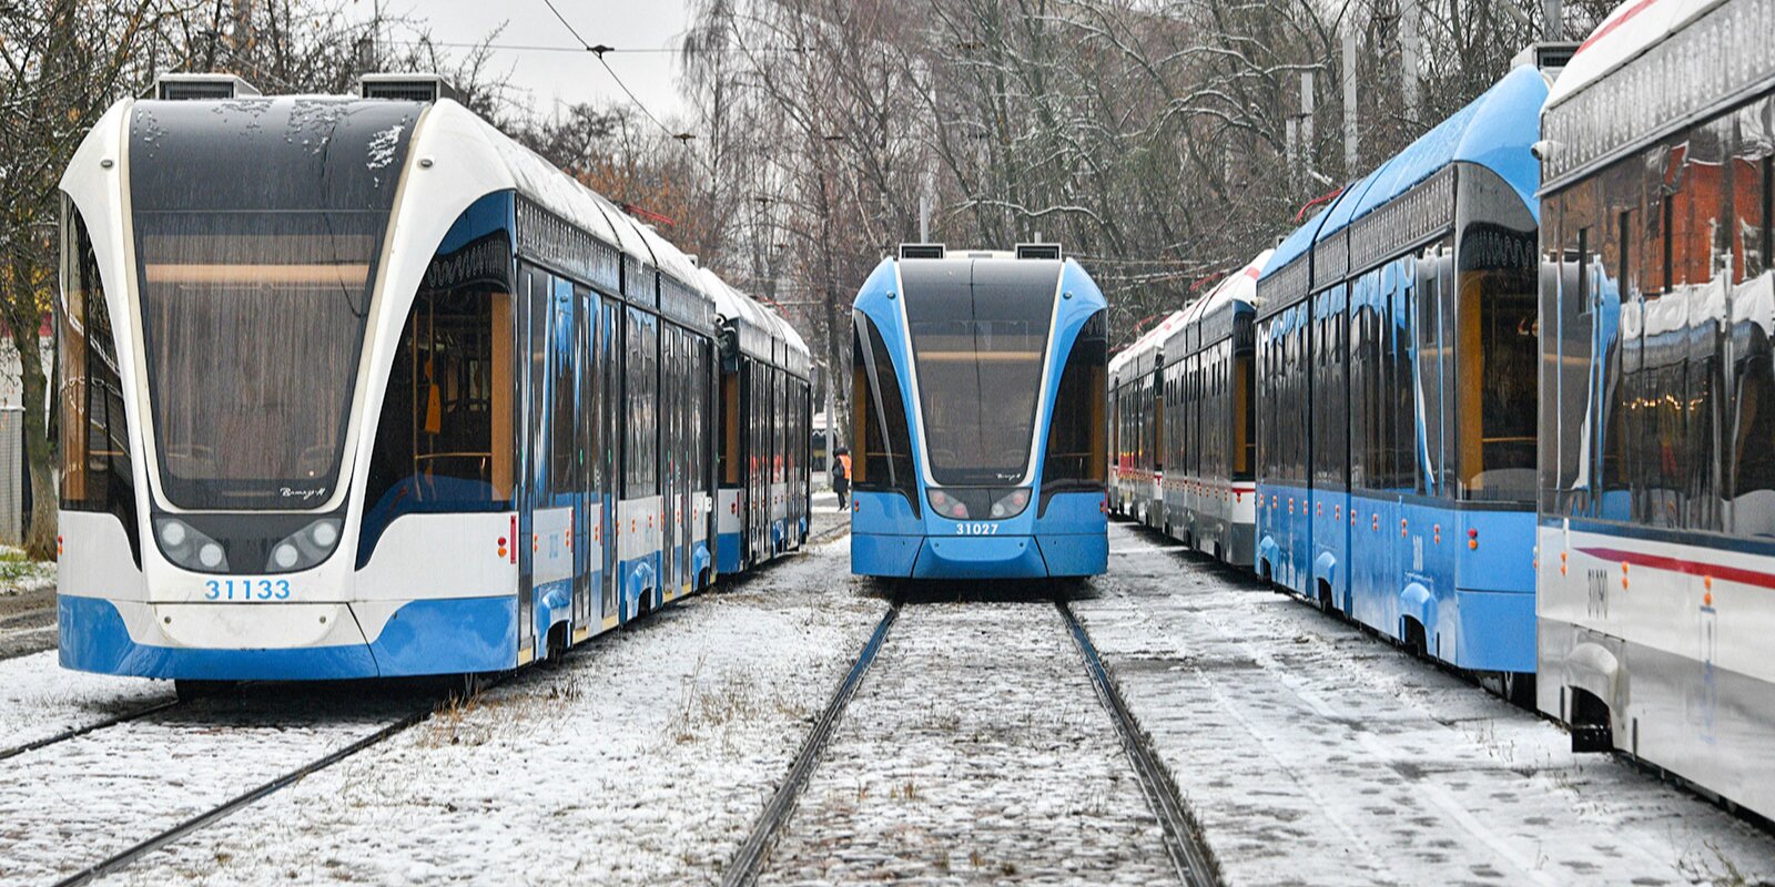
[[[335,493],[414,105],[140,103],[130,181],[154,444],[190,509]]]

